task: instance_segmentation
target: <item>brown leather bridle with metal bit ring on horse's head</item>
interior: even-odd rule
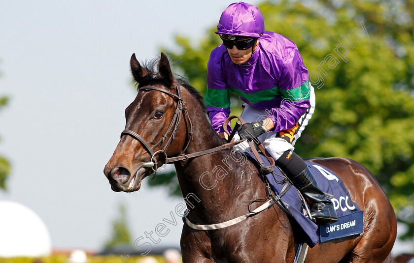
[[[187,107],[185,106],[184,101],[182,99],[180,86],[177,84],[176,87],[177,87],[177,94],[174,94],[174,93],[172,93],[172,92],[170,92],[166,89],[157,88],[157,87],[154,87],[154,86],[144,86],[144,87],[139,88],[139,90],[138,90],[138,92],[141,91],[141,90],[151,90],[151,89],[152,90],[158,90],[158,91],[161,91],[163,93],[166,93],[166,94],[178,99],[177,108],[175,109],[173,119],[171,120],[171,123],[170,123],[170,126],[168,127],[167,132],[164,134],[164,136],[154,146],[151,147],[148,144],[148,142],[145,141],[144,138],[142,138],[138,133],[136,133],[132,130],[124,130],[123,132],[121,132],[121,138],[124,135],[130,135],[134,139],[138,140],[142,144],[142,146],[144,146],[144,148],[151,155],[151,159],[150,159],[149,162],[144,163],[142,165],[142,167],[151,168],[155,172],[155,174],[163,171],[166,167],[166,164],[167,164],[167,162],[166,162],[164,167],[162,167],[162,169],[157,170],[158,169],[158,167],[157,167],[158,161],[155,158],[155,155],[157,153],[160,153],[160,154],[164,153],[165,158],[166,159],[168,158],[167,154],[166,154],[166,149],[172,143],[172,141],[175,137],[175,133],[177,132],[178,126],[181,122],[181,114],[188,119],[189,128],[190,128],[190,131],[188,133],[190,138],[187,140],[187,143],[183,147],[181,153],[183,153],[187,149],[188,145],[190,144],[190,141],[193,139],[193,126],[191,124],[191,119],[188,116]],[[167,139],[170,132],[171,132],[171,136]],[[167,142],[165,143],[164,148],[154,152],[155,147],[157,147],[159,145],[162,145],[165,142],[165,140],[167,140]],[[154,167],[155,167],[155,169],[154,169]]]

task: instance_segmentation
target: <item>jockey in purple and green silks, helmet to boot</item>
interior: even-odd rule
[[[223,11],[215,33],[223,44],[211,52],[207,63],[206,105],[211,126],[227,139],[223,123],[230,115],[229,91],[240,95],[246,104],[242,113],[246,123],[235,139],[260,140],[310,203],[316,223],[336,222],[334,205],[305,161],[293,152],[315,107],[308,69],[295,43],[264,31],[259,9],[244,2],[232,3]]]

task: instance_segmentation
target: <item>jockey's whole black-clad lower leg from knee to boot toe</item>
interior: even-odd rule
[[[277,165],[311,206],[311,217],[316,224],[328,225],[338,221],[332,201],[326,199],[305,161],[296,153],[286,151],[277,159]]]

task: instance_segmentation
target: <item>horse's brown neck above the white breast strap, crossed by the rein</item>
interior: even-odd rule
[[[207,118],[193,120],[193,140],[186,153],[199,152],[222,144]],[[181,191],[196,218],[223,220],[223,211],[236,214],[249,201],[262,198],[257,169],[230,150],[203,155],[175,165]],[[218,217],[217,217],[218,216]],[[232,215],[229,215],[230,217]]]

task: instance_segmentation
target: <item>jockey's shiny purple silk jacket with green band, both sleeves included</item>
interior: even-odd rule
[[[229,91],[243,102],[267,112],[272,131],[292,128],[310,107],[308,69],[295,43],[265,31],[252,57],[243,65],[231,60],[227,49],[215,48],[207,63],[206,105],[211,126],[223,131],[230,115]]]

